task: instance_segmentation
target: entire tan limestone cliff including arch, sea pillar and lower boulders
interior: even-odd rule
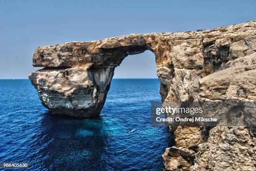
[[[49,110],[71,116],[97,116],[115,67],[126,56],[145,50],[156,56],[163,102],[256,99],[256,21],[212,30],[131,34],[39,47],[33,55],[33,66],[46,68],[31,73],[29,79]],[[239,170],[245,162],[245,170],[255,170],[255,139],[248,128],[170,130],[176,137],[176,147],[167,148],[163,155],[166,170]],[[233,143],[230,134],[235,137],[230,140]],[[229,159],[223,160],[227,149]],[[246,160],[232,159],[232,155]],[[220,161],[221,166],[216,163]]]

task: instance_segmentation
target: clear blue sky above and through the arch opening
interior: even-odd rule
[[[37,47],[256,20],[255,0],[0,0],[0,79],[28,78]],[[157,78],[154,54],[129,55],[114,78]]]

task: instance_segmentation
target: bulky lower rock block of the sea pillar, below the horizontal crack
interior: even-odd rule
[[[31,73],[29,79],[49,110],[69,116],[95,116],[105,103],[115,68],[90,65],[44,68]]]

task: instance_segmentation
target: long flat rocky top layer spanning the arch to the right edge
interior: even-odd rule
[[[119,58],[129,54],[142,53],[144,50],[153,51],[157,57],[157,51],[170,51],[170,47],[187,43],[199,43],[207,45],[221,38],[239,39],[242,35],[256,34],[256,20],[223,26],[210,30],[197,30],[177,33],[149,33],[131,34],[126,36],[107,38],[90,42],[68,42],[59,45],[41,46],[33,55],[33,66],[36,67],[59,67],[59,66],[82,66],[86,63],[99,65],[119,65]],[[191,40],[191,41],[190,41]],[[198,40],[198,41],[195,41]],[[190,42],[189,42],[190,41]],[[195,44],[195,47],[198,45]],[[106,60],[117,62],[105,63]]]

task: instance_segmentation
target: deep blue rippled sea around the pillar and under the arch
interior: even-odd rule
[[[113,79],[100,117],[56,116],[29,80],[0,80],[0,162],[28,162],[29,170],[162,170],[172,137],[151,126],[151,101],[161,101],[159,80]]]

